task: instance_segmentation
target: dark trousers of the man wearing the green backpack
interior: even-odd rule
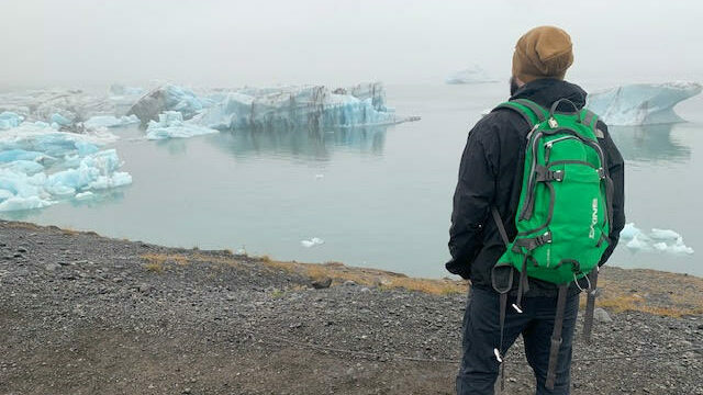
[[[499,294],[489,290],[471,289],[469,302],[464,315],[464,358],[457,376],[457,394],[493,394],[493,384],[499,375],[500,363],[495,360],[493,348],[500,343],[500,303]],[[503,348],[513,345],[517,336],[523,335],[525,354],[532,366],[537,386],[537,395],[568,395],[570,386],[571,343],[576,318],[579,313],[579,295],[567,297],[563,318],[562,343],[557,363],[557,381],[554,391],[545,387],[549,346],[557,297],[523,297],[522,314],[511,304],[515,297],[507,298]],[[527,369],[513,362],[511,369]]]

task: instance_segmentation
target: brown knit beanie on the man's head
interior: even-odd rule
[[[513,76],[527,83],[538,78],[563,79],[573,63],[571,37],[555,26],[539,26],[525,33],[513,54]]]

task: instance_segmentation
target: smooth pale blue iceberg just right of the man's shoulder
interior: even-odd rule
[[[683,122],[673,106],[699,93],[698,82],[636,83],[596,91],[587,106],[609,125],[651,125]]]

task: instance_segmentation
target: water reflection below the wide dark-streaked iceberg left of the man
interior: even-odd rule
[[[386,131],[392,126],[339,128],[334,131],[233,131],[207,136],[235,157],[291,156],[328,160],[335,147],[358,154],[382,155]]]

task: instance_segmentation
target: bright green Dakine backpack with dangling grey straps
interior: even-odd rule
[[[572,113],[557,112],[560,103],[571,104]],[[517,236],[509,240],[500,214],[491,210],[506,250],[493,268],[493,287],[501,294],[501,346],[495,357],[502,362],[502,331],[507,293],[513,272],[520,272],[517,300],[513,307],[522,313],[521,301],[527,278],[557,284],[557,313],[551,338],[547,387],[554,387],[555,366],[561,343],[566,290],[585,278],[587,340],[590,337],[598,263],[609,246],[612,224],[613,183],[598,137],[598,115],[561,99],[547,111],[525,99],[500,104],[496,109],[518,112],[532,126],[527,134],[525,169],[515,217]],[[595,269],[595,270],[594,270]],[[501,273],[502,272],[502,273]],[[499,284],[507,273],[507,284]],[[590,319],[589,319],[590,316]]]

